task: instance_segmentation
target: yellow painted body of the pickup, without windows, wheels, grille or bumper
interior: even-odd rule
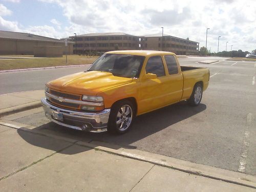
[[[127,54],[145,56],[145,60],[138,79],[113,76],[108,72],[90,71],[80,72],[58,78],[47,83],[51,89],[61,92],[102,96],[104,107],[111,108],[114,102],[134,98],[137,103],[137,115],[147,113],[163,106],[188,99],[194,85],[202,81],[203,91],[208,87],[209,70],[196,69],[181,72],[178,66],[178,74],[169,75],[164,55],[176,55],[163,51],[111,51],[108,54]],[[152,56],[161,56],[165,69],[165,76],[154,78],[154,75],[146,77],[145,66]],[[176,58],[179,65],[179,61]],[[184,84],[183,84],[184,78]]]

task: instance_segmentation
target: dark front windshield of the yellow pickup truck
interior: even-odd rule
[[[145,57],[138,55],[103,54],[87,71],[104,71],[119,77],[139,77]]]

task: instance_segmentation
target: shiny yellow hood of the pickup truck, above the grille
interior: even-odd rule
[[[106,89],[131,82],[131,78],[117,77],[108,72],[90,71],[60,77],[48,82],[47,86],[62,92],[93,96]]]

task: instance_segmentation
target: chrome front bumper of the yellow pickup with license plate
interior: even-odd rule
[[[58,108],[46,98],[41,99],[45,115],[51,121],[69,128],[88,132],[104,132],[107,130],[110,109],[95,113],[84,113]],[[53,113],[61,115],[61,119],[54,117]]]

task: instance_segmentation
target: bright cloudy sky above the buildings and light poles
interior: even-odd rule
[[[162,33],[219,51],[256,49],[256,0],[0,0],[0,30],[53,38]]]

